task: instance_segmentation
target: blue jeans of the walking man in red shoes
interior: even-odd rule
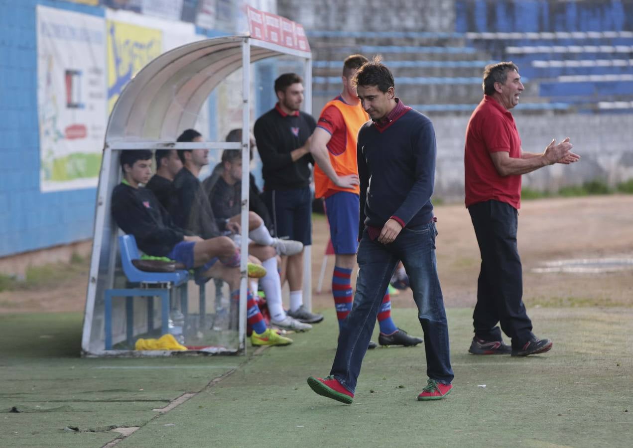
[[[372,241],[363,232],[358,246],[358,278],[352,311],[343,321],[339,345],[330,375],[345,389],[354,392],[360,366],[372,337],[382,297],[399,260],[409,275],[413,299],[418,306],[418,319],[424,332],[427,376],[450,384],[453,369],[449,355],[448,325],[442,290],[437,277],[434,222],[415,229],[403,228],[391,244]]]

